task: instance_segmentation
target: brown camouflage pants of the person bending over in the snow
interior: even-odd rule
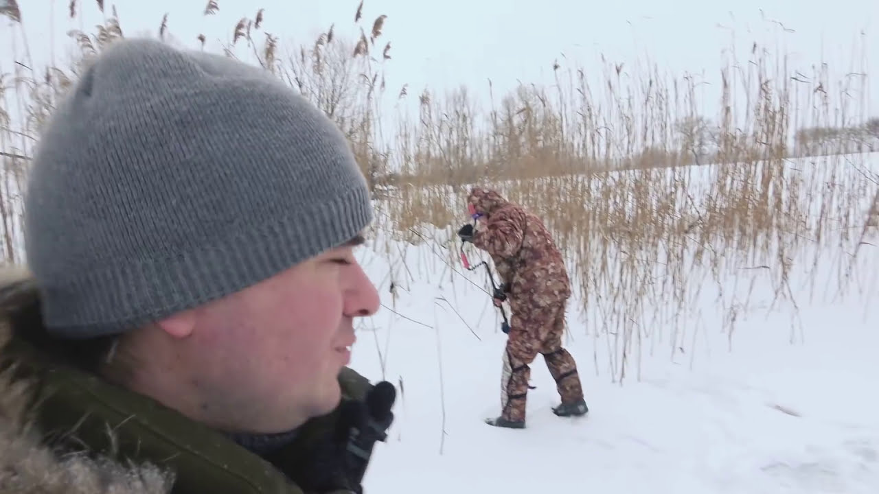
[[[564,302],[549,307],[534,307],[513,313],[509,338],[504,351],[501,377],[501,416],[507,420],[525,420],[525,405],[531,367],[538,353],[543,355],[556,381],[562,403],[583,398],[577,363],[562,347]]]

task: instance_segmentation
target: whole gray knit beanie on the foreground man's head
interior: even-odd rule
[[[345,135],[263,69],[121,40],[40,137],[27,262],[49,331],[127,331],[232,294],[372,221]]]

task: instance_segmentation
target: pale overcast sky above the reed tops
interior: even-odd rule
[[[0,0],[3,4],[5,0]],[[333,23],[338,34],[354,34],[353,16],[359,0],[316,1],[218,0],[220,11],[202,16],[206,0],[120,0],[115,3],[127,35],[156,33],[163,15],[169,13],[171,33],[185,44],[197,47],[199,33],[214,40],[208,48],[218,49],[217,40],[231,39],[238,18],[253,18],[265,9],[264,29],[282,41],[311,42],[317,33]],[[79,2],[85,20],[70,21],[68,0],[19,0],[32,58],[48,62],[70,43],[65,33],[71,28],[93,26],[101,20],[94,0]],[[106,2],[109,11],[110,2]],[[487,98],[487,79],[495,91],[505,92],[517,84],[552,84],[552,64],[565,63],[561,54],[580,67],[602,70],[600,57],[623,62],[631,69],[637,60],[649,56],[659,68],[682,76],[704,74],[709,89],[706,105],[719,95],[716,84],[722,64],[722,50],[735,33],[737,51],[746,56],[752,43],[771,42],[781,47],[791,63],[807,71],[810,65],[830,62],[833,73],[859,71],[851,65],[853,49],[861,55],[854,61],[879,69],[879,1],[834,0],[627,0],[625,2],[574,2],[571,0],[446,0],[419,3],[411,0],[367,0],[365,27],[385,14],[383,40],[392,43],[388,72],[389,92],[396,94],[403,84],[410,95],[429,86],[443,91],[460,84]],[[779,21],[788,31],[782,31]],[[12,48],[20,54],[22,33],[10,31],[0,21],[0,72],[12,70]],[[382,43],[383,44],[383,43]],[[866,47],[866,51],[865,50]],[[844,65],[844,66],[841,66]],[[870,92],[879,97],[879,78],[873,78]],[[879,114],[879,103],[870,101],[870,113]]]

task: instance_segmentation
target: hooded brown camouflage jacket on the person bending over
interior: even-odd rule
[[[562,254],[540,218],[490,189],[475,188],[467,200],[486,219],[483,225],[477,222],[472,242],[490,254],[501,280],[509,285],[507,299],[513,311],[570,297]]]

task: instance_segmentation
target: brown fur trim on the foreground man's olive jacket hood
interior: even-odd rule
[[[37,290],[27,272],[2,268],[0,349],[11,338],[11,314],[36,301]],[[40,432],[26,411],[31,396],[29,383],[12,381],[11,370],[0,370],[0,494],[171,492],[171,478],[149,466],[55,454],[40,442]]]

